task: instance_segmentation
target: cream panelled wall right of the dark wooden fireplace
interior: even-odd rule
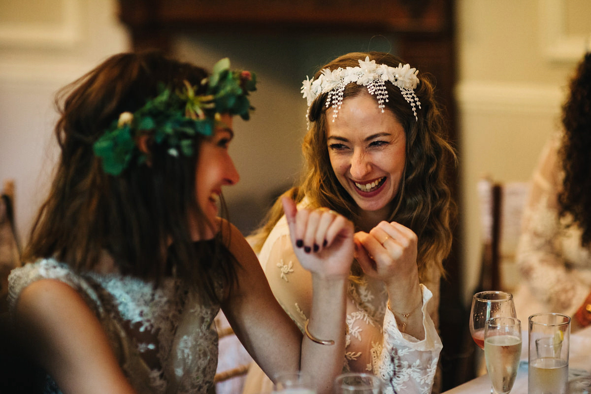
[[[465,299],[480,263],[476,182],[529,180],[574,66],[591,38],[591,2],[459,0],[457,49]]]

